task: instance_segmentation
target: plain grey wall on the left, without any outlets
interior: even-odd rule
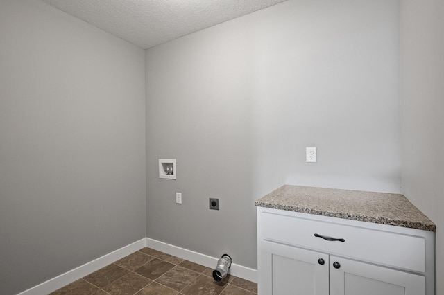
[[[144,51],[0,1],[0,294],[146,236]]]

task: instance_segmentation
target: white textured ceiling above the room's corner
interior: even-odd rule
[[[43,0],[141,48],[285,0]]]

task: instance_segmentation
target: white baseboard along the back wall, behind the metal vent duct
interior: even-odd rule
[[[164,253],[177,256],[179,258],[186,259],[191,262],[197,263],[199,265],[210,267],[212,269],[216,267],[217,260],[219,260],[220,258],[220,257],[216,258],[212,256],[207,256],[202,253],[183,249],[150,238],[146,238],[146,247],[155,249],[157,251],[162,251]],[[223,253],[221,253],[221,255],[222,254]],[[228,253],[228,255],[230,255],[230,253]],[[228,270],[228,274],[232,274],[233,276],[244,278],[245,280],[250,280],[251,282],[257,283],[257,269],[251,269],[249,267],[244,267],[242,265],[237,265],[236,263],[232,263],[230,269]]]

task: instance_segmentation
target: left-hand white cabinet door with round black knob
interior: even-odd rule
[[[329,256],[262,240],[259,295],[328,295]]]

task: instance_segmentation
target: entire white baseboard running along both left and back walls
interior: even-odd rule
[[[71,269],[70,271],[65,272],[65,274],[61,274],[60,276],[51,278],[51,280],[46,280],[46,282],[32,287],[31,289],[27,289],[26,291],[17,295],[49,294],[144,247],[150,247],[157,251],[162,251],[164,253],[177,256],[179,258],[186,259],[210,268],[216,267],[217,260],[219,260],[219,258],[207,256],[205,254],[183,249],[171,244],[167,244],[150,238],[143,238],[142,240],[133,242],[128,246],[122,247],[121,249],[117,249],[116,251],[112,251],[111,253],[108,253],[102,257],[87,262],[85,263],[85,265],[80,265],[80,267]],[[256,269],[250,269],[249,267],[244,267],[242,265],[232,263],[228,273],[232,274],[233,276],[244,278],[245,280],[250,280],[251,282],[257,283]]]

